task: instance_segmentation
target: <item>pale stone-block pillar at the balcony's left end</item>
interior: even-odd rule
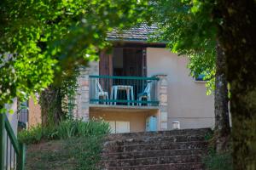
[[[74,109],[74,117],[82,119],[83,121],[89,120],[89,75],[98,75],[99,65],[97,61],[90,62],[88,66],[80,68],[80,76],[78,79],[78,90],[76,96],[76,108]]]

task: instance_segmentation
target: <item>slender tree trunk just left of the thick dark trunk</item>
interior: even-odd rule
[[[228,82],[226,80],[225,55],[217,44],[216,47],[216,74],[215,74],[215,134],[216,150],[226,149],[226,142],[230,135]]]

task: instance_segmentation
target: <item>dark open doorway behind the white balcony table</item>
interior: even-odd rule
[[[146,48],[113,48],[113,76],[126,77],[113,79],[113,85],[132,87],[134,99],[137,99],[146,83],[136,77],[147,77],[146,63]],[[118,99],[126,99],[125,93],[119,91]]]

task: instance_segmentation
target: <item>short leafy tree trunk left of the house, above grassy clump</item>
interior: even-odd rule
[[[61,89],[49,87],[40,95],[42,126],[54,125],[61,121]]]

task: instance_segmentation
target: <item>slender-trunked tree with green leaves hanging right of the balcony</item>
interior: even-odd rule
[[[201,10],[195,8],[197,3],[190,0],[154,3],[153,18],[159,26],[154,38],[168,42],[167,46],[173,52],[188,55],[192,76],[207,75],[208,90],[215,89],[215,133],[219,151],[225,148],[225,140],[230,134],[225,59],[218,46],[219,20],[212,15],[215,7],[212,3],[203,3],[201,8],[207,10]]]

